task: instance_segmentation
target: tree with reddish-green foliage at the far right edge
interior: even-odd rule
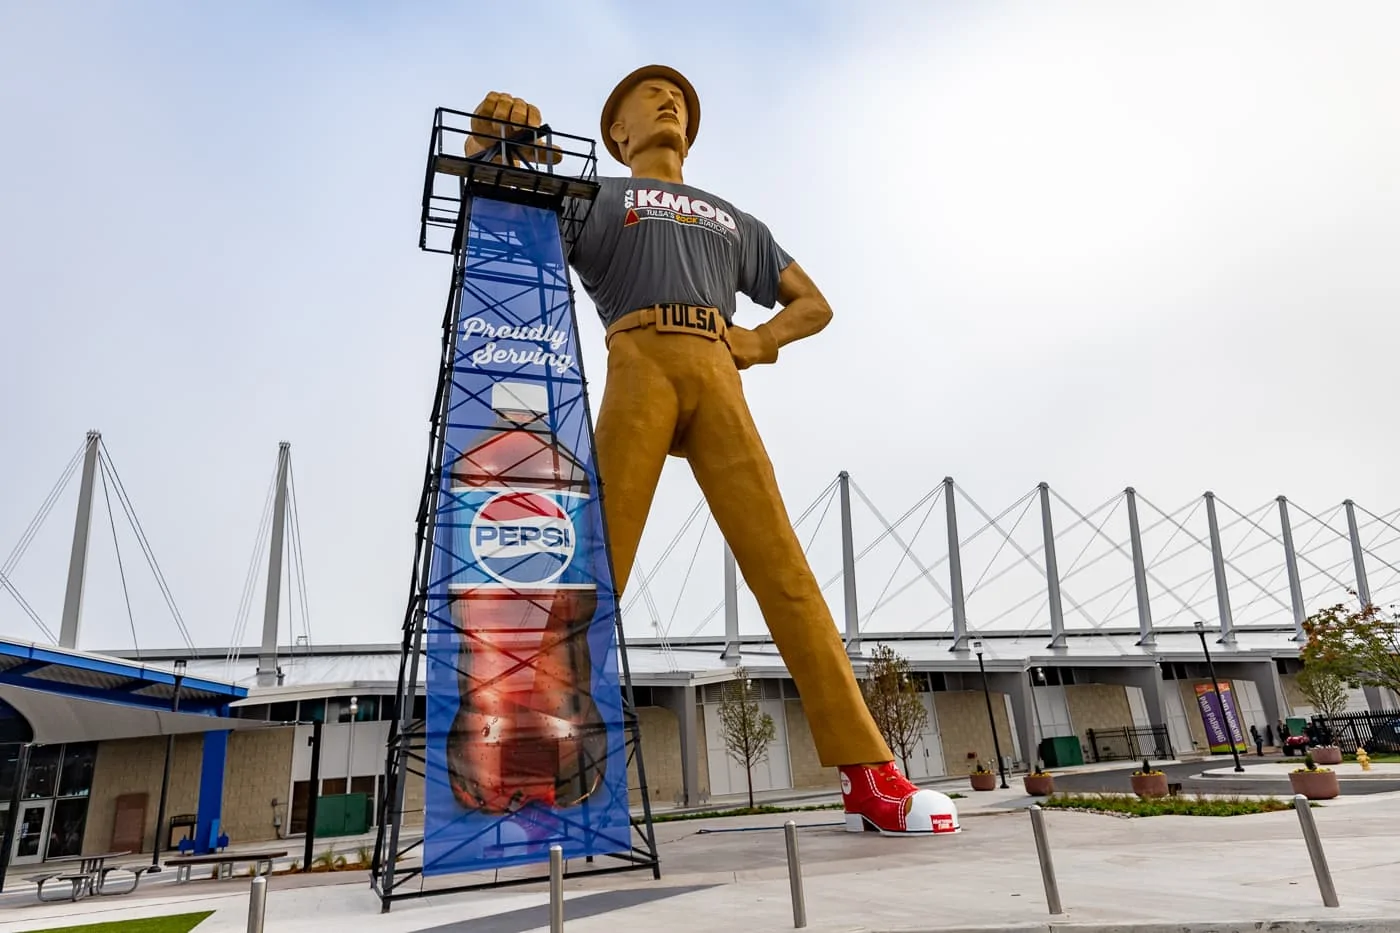
[[[1379,607],[1329,607],[1303,621],[1306,667],[1348,684],[1400,692],[1400,614]]]

